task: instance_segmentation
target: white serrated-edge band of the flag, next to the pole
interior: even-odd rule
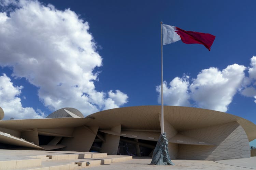
[[[175,32],[174,26],[162,24],[163,29],[163,45],[175,43],[181,40],[181,37]]]

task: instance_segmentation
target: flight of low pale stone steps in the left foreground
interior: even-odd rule
[[[75,170],[132,159],[132,156],[107,155],[105,153],[36,155],[28,157],[31,159],[0,161],[0,170]]]

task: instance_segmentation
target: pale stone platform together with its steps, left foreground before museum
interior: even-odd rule
[[[73,170],[131,160],[132,156],[75,151],[0,150],[0,170]]]

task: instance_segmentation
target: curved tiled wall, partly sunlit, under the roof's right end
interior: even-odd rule
[[[180,159],[223,160],[250,157],[246,133],[237,122],[181,132],[215,146],[179,145]]]

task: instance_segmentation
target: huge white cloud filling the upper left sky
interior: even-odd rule
[[[11,12],[10,4],[15,6]],[[128,102],[128,96],[120,90],[103,92],[95,88],[95,68],[102,66],[102,57],[88,22],[75,12],[34,0],[4,0],[0,5],[5,9],[0,12],[0,66],[11,67],[12,77],[26,78],[38,87],[45,106],[52,111],[75,107],[88,115]],[[19,92],[13,99],[21,90],[14,88]],[[8,106],[3,109],[11,115],[6,112]],[[34,113],[31,110],[31,115]]]

